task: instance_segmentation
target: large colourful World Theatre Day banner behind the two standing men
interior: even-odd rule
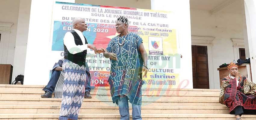
[[[129,31],[138,34],[148,54],[148,74],[143,78],[143,88],[178,88],[180,54],[177,48],[175,14],[126,7],[56,2],[53,8],[51,33],[51,61],[63,58],[63,38],[72,30],[72,20],[81,17],[88,23],[83,35],[89,44],[106,48],[118,35],[116,20],[125,16]],[[91,73],[91,86],[109,86],[110,59],[103,54],[86,58]]]

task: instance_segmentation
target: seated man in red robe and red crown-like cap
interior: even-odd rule
[[[229,107],[229,113],[242,120],[243,114],[256,114],[256,84],[247,77],[241,76],[238,66],[231,62],[228,66],[229,75],[222,79],[220,90],[221,104]]]

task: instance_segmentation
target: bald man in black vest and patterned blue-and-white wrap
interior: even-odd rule
[[[84,19],[73,19],[72,24],[74,30],[67,32],[63,38],[64,84],[59,120],[77,120],[85,94],[85,64],[87,51],[90,51],[89,48],[93,49],[95,53],[105,52],[103,48],[96,49],[94,45],[87,43],[82,33],[87,29]]]

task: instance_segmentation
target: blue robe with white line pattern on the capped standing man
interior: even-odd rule
[[[122,38],[122,39],[121,39]],[[143,61],[139,52],[142,38],[134,33],[129,33],[122,46],[125,36],[118,41],[118,36],[111,39],[106,50],[117,55],[117,61],[111,60],[111,70],[108,79],[113,103],[120,100],[120,95],[125,95],[131,104],[141,105],[142,95],[142,65]]]

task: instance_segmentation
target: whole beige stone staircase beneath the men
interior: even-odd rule
[[[43,87],[0,84],[0,119],[58,120],[61,99],[41,98]],[[80,120],[120,120],[109,87],[94,88],[91,95],[92,99],[83,100]],[[143,120],[235,120],[219,103],[218,89],[143,89],[142,95]],[[256,116],[242,118],[255,120]]]

